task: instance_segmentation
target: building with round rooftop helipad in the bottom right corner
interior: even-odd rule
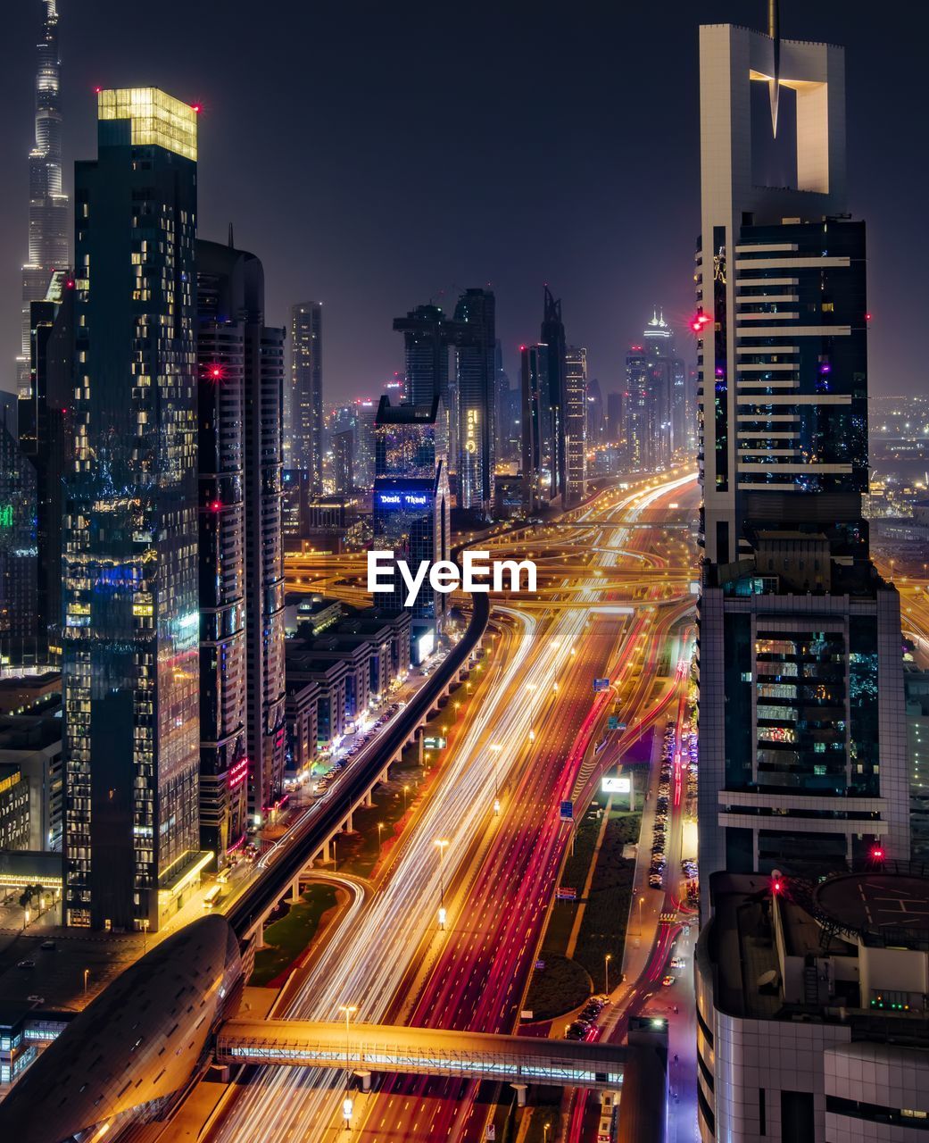
[[[921,869],[803,881],[715,873],[708,890],[713,919],[694,958],[700,1140],[924,1140]]]

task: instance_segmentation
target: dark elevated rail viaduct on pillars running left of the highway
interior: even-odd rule
[[[262,943],[264,920],[281,897],[299,892],[299,878],[318,856],[326,857],[333,838],[351,831],[352,816],[359,806],[369,805],[371,790],[387,778],[393,762],[403,748],[415,741],[419,727],[449,693],[451,684],[466,671],[472,654],[480,648],[481,637],[490,617],[490,599],[486,594],[472,598],[471,621],[462,638],[409,703],[386,725],[373,743],[362,751],[333,786],[269,854],[264,874],[250,885],[231,905],[226,918],[240,940],[251,936]]]

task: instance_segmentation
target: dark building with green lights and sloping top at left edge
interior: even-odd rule
[[[35,470],[0,421],[0,648],[15,663],[35,641],[37,507]]]

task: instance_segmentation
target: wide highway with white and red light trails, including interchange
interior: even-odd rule
[[[692,555],[679,522],[663,529],[649,517],[673,515],[691,485],[682,473],[606,493],[558,527],[480,545],[531,552],[539,594],[494,601],[499,646],[430,798],[376,892],[330,928],[278,1015],[337,1020],[347,1007],[371,1022],[514,1028],[569,841],[559,804],[577,797],[578,784],[580,800],[594,789],[590,748],[611,696],[595,698],[593,679],[610,678],[622,695],[630,743],[664,719],[680,689],[667,663],[689,622]],[[345,1126],[347,1085],[312,1069],[258,1070],[227,1101],[211,1137],[333,1137]],[[355,1096],[352,1134],[476,1138],[488,1108],[476,1085],[453,1087],[387,1080]]]

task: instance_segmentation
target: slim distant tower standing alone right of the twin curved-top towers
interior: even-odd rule
[[[310,473],[310,493],[322,493],[322,303],[290,311],[290,464]]]

